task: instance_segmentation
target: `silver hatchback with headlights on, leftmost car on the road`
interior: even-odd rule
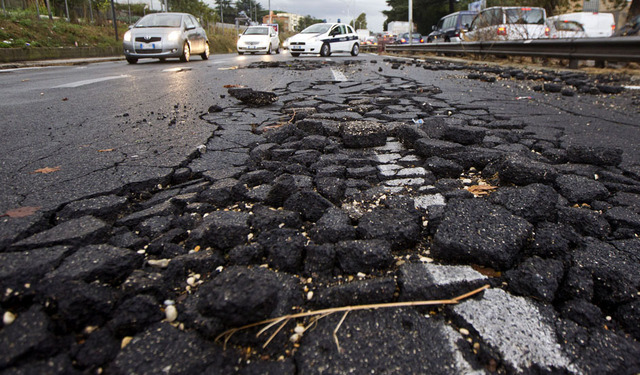
[[[124,34],[123,47],[129,64],[142,58],[168,57],[187,62],[194,54],[209,58],[207,34],[188,13],[153,13],[141,18]]]

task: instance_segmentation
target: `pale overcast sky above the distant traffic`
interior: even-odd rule
[[[269,0],[258,0],[262,8],[269,9]],[[367,26],[374,32],[384,31],[382,23],[387,19],[383,10],[390,9],[386,0],[271,0],[271,9],[283,10],[302,16],[326,19],[327,22],[348,23],[360,13],[367,15]]]

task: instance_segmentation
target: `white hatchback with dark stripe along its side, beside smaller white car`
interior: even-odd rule
[[[335,52],[351,53],[358,56],[360,41],[350,25],[343,23],[316,23],[289,38],[291,56],[319,54],[330,56]]]

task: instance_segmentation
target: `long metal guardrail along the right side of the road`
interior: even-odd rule
[[[378,46],[363,46],[378,50]],[[568,60],[640,62],[640,37],[532,39],[459,43],[387,44],[388,52],[511,55]]]

